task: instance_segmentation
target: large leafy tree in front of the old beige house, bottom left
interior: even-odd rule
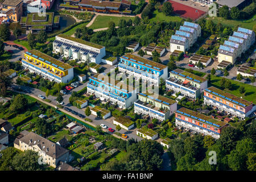
[[[39,171],[38,152],[26,150],[14,156],[12,165],[16,171]]]

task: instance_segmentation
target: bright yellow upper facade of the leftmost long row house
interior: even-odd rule
[[[53,67],[53,65],[48,64],[42,60],[36,59],[35,57],[28,55],[27,53],[24,53],[24,57],[25,57],[25,59],[23,59],[24,61],[26,61],[32,65],[35,65],[36,67],[47,69],[47,71],[52,73],[53,75],[56,75],[59,77],[64,77],[64,76],[68,75],[67,70],[62,71],[61,69]]]

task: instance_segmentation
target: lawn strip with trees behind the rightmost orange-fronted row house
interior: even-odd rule
[[[222,89],[220,87],[220,80],[222,77],[217,77],[217,76],[211,76],[211,81],[210,84],[208,84],[208,86],[215,86],[218,89]],[[230,79],[229,79],[230,80]],[[231,94],[233,94],[234,96],[238,96],[238,97],[242,97],[243,99],[247,100],[247,101],[251,101],[254,104],[256,104],[256,86],[253,85],[249,85],[249,84],[245,84],[239,81],[234,81],[234,80],[230,80],[232,82],[232,89],[224,89],[226,92],[229,92]],[[239,92],[239,88],[240,86],[244,86],[245,87],[245,93],[241,94]]]

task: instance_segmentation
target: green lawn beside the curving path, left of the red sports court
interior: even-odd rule
[[[93,24],[89,28],[98,29],[98,28],[109,27],[109,22],[110,21],[113,21],[115,23],[115,26],[118,26],[118,23],[119,23],[120,19],[125,19],[125,20],[132,19],[133,20],[134,17],[126,17],[126,16],[118,17],[118,16],[98,15],[96,17],[96,19],[94,20]]]

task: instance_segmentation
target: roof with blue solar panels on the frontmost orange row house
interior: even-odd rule
[[[176,113],[181,114],[180,112],[185,113],[185,114],[182,114],[182,115],[185,115],[186,117],[189,117],[189,118],[191,118],[191,119],[196,119],[196,118],[197,118],[198,121],[201,121],[200,119],[203,119],[204,121],[201,121],[201,122],[204,122],[204,123],[207,123],[207,122],[205,122],[205,121],[211,122],[212,124],[210,124],[210,123],[207,123],[207,124],[208,124],[208,125],[211,125],[211,126],[213,126],[213,127],[217,127],[216,125],[218,125],[218,126],[219,126],[218,128],[220,128],[220,127],[226,125],[226,123],[224,123],[224,122],[222,122],[222,121],[220,121],[220,120],[213,119],[213,118],[211,118],[211,117],[208,117],[207,115],[198,113],[198,112],[193,111],[193,110],[189,110],[189,109],[187,109],[187,108],[185,108],[185,107],[181,107],[179,110],[176,111]],[[186,115],[186,114],[187,114],[187,115]],[[188,115],[188,114],[189,114],[189,115]],[[196,118],[195,118],[195,117],[196,117]],[[198,119],[198,118],[199,118],[199,119]],[[215,125],[213,125],[213,124],[215,124]]]

